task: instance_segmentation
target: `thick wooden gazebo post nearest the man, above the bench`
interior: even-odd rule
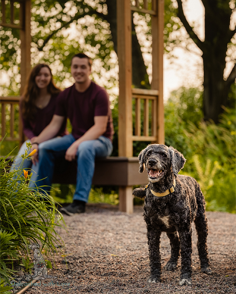
[[[117,1],[118,64],[119,64],[119,156],[133,156],[132,142],[132,56],[131,9],[129,0]]]

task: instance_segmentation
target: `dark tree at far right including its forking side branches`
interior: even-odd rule
[[[218,122],[222,112],[221,105],[228,106],[228,97],[236,78],[234,65],[227,79],[224,79],[227,49],[232,45],[235,29],[230,29],[230,21],[235,10],[235,1],[202,0],[205,7],[205,40],[201,41],[186,19],[182,0],[177,0],[178,12],[182,24],[189,37],[202,50],[203,81],[203,113],[205,120]]]

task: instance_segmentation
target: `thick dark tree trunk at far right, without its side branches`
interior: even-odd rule
[[[211,5],[211,9],[206,4]],[[217,6],[217,1],[205,1],[205,46],[203,47],[203,68],[204,68],[204,92],[203,92],[203,113],[204,120],[213,120],[218,123],[219,115],[222,113],[222,105],[227,106],[229,95],[230,79],[224,80],[224,69],[226,66],[226,51],[230,42],[230,16],[229,6],[225,10]],[[227,9],[226,9],[227,8]],[[212,11],[220,18],[220,26],[216,24]]]

